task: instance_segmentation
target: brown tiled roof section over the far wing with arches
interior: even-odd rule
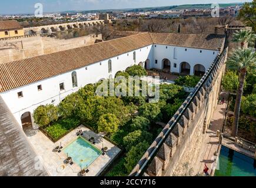
[[[220,50],[225,35],[193,34],[193,33],[149,33],[154,43],[162,45],[182,46]]]

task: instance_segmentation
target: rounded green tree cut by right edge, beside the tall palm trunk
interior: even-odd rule
[[[242,97],[241,110],[247,115],[256,117],[256,94]]]

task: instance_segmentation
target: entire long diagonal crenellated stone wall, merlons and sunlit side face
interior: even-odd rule
[[[188,173],[197,161],[204,133],[217,108],[227,51],[224,49],[215,59],[130,176],[184,176]]]

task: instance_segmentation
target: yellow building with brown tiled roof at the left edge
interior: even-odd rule
[[[19,25],[19,22],[14,20],[0,21],[0,39],[14,36],[24,36],[23,27]]]

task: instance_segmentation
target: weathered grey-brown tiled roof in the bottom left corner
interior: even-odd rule
[[[0,96],[0,176],[48,176],[35,169],[36,154]]]

